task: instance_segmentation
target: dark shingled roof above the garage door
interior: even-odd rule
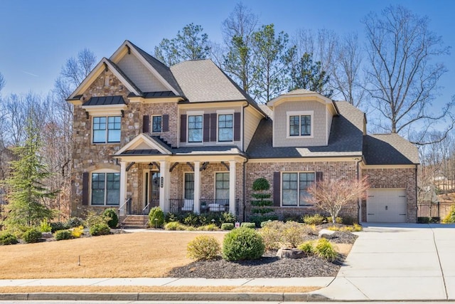
[[[365,135],[366,164],[419,164],[417,147],[396,133]]]

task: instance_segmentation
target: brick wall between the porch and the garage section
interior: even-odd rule
[[[274,172],[323,172],[323,179],[355,179],[357,178],[357,163],[348,162],[247,162],[247,179],[246,179],[246,201],[247,211],[251,209],[250,199],[252,199],[252,183],[259,177],[264,177],[270,183],[269,193],[273,199],[273,174]],[[300,217],[304,214],[323,213],[313,207],[273,207],[272,215],[277,215],[279,219],[291,219]],[[358,204],[353,201],[343,211],[341,216],[350,216],[358,220]],[[250,214],[247,214],[247,220]]]

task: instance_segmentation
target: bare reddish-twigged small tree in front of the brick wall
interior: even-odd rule
[[[312,184],[306,191],[310,194],[307,201],[309,204],[327,211],[333,223],[343,206],[346,206],[357,199],[365,199],[366,192],[370,188],[367,181],[363,179],[323,179]]]

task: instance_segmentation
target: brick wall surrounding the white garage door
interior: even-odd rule
[[[368,175],[371,188],[405,188],[406,189],[406,222],[417,222],[416,169],[362,169],[362,176]],[[366,221],[366,201],[362,203],[362,220]]]

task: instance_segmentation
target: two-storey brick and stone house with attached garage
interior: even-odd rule
[[[68,98],[74,105],[72,213],[230,211],[249,218],[252,182],[272,185],[273,213],[317,212],[317,179],[368,175],[360,221],[417,221],[417,148],[366,135],[346,102],[294,90],[257,105],[210,60],[170,68],[129,41],[102,58]]]

